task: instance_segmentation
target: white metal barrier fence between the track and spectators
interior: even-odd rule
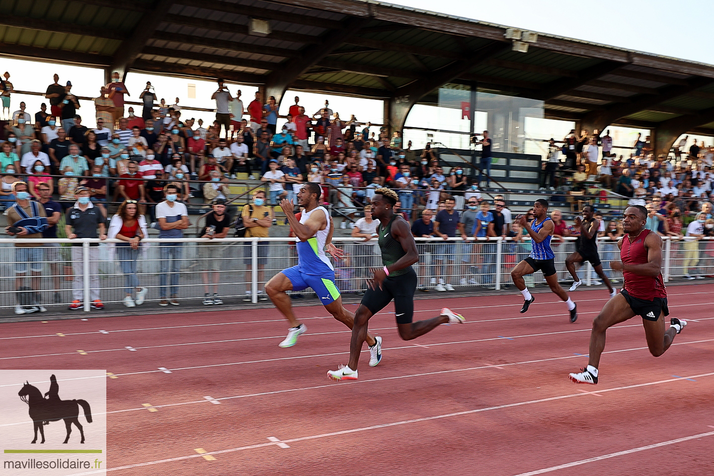
[[[529,240],[511,238],[478,240],[435,240],[416,238],[420,261],[414,266],[418,288],[440,291],[503,289],[511,283],[511,269],[530,253]],[[575,250],[575,238],[552,242],[558,280],[571,280],[565,258]],[[78,310],[89,311],[95,299],[121,306],[126,295],[147,288],[143,306],[154,307],[162,300],[180,305],[196,304],[206,293],[226,304],[258,303],[267,300],[265,283],[276,273],[297,264],[294,238],[147,238],[141,251],[122,246],[126,242],[99,239],[43,239],[39,247],[23,247],[36,240],[0,240],[0,315],[13,309],[66,306],[76,301]],[[338,288],[342,293],[361,293],[371,278],[370,268],[381,266],[376,240],[333,238],[345,251],[343,261],[333,260]],[[685,275],[714,275],[714,240],[664,238],[665,281]],[[119,244],[119,245],[116,245]],[[615,283],[622,274],[610,270],[610,260],[619,259],[617,244],[601,240],[600,259]],[[586,285],[597,284],[590,264],[578,271]],[[544,283],[540,273],[526,276],[528,286]],[[311,290],[301,293],[309,294]],[[30,311],[33,312],[33,311]]]

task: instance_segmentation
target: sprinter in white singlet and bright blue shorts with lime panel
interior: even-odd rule
[[[292,347],[298,341],[298,336],[307,332],[306,326],[293,314],[290,296],[286,293],[288,290],[313,288],[327,312],[336,320],[350,329],[354,323],[354,314],[342,305],[340,291],[335,285],[335,270],[330,258],[325,255],[325,250],[328,250],[333,257],[341,258],[342,252],[332,244],[333,223],[330,213],[324,207],[318,206],[321,193],[322,189],[314,182],[308,182],[300,188],[298,205],[303,207],[304,211],[299,222],[293,214],[293,201],[280,202],[288,223],[298,238],[298,265],[282,270],[266,284],[266,293],[291,324],[288,336],[278,344],[283,348]],[[370,363],[377,365],[377,358],[381,358],[381,348],[369,333],[366,341],[371,346]]]

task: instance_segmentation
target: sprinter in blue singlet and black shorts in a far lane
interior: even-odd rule
[[[520,220],[521,226],[531,236],[533,251],[531,251],[531,255],[528,258],[518,263],[516,268],[511,271],[513,284],[523,294],[521,313],[525,313],[528,310],[528,306],[535,300],[533,295],[528,292],[523,276],[541,270],[543,271],[545,282],[550,286],[550,290],[568,305],[570,322],[574,323],[575,320],[578,320],[578,306],[570,300],[568,293],[565,293],[565,290],[558,284],[558,273],[555,271],[555,255],[553,254],[553,249],[550,248],[550,238],[553,237],[553,229],[555,227],[553,226],[553,221],[548,218],[548,201],[538,198],[533,203],[533,216],[535,219],[531,223],[528,223],[525,215],[521,216]]]

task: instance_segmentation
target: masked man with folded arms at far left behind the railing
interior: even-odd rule
[[[8,223],[12,226],[5,228],[5,233],[17,238],[42,238],[46,230],[47,214],[41,204],[30,200],[27,184],[21,181],[12,184],[12,193],[15,203],[8,208]],[[46,309],[39,303],[37,291],[40,289],[40,273],[42,271],[42,246],[43,243],[15,244],[15,275],[17,303],[15,314],[29,314],[41,312]],[[23,287],[23,280],[27,275],[27,268],[32,273],[32,287]],[[34,293],[31,291],[35,290]]]

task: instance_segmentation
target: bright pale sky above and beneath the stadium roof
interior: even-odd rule
[[[673,4],[665,0],[620,0],[613,4],[598,4],[597,8],[570,0],[511,0],[508,2],[508,8],[504,8],[503,2],[473,0],[447,2],[402,0],[395,3],[415,9],[440,11],[521,29],[714,64],[714,49],[711,48],[710,28],[707,26],[708,19],[714,18],[714,1],[680,0]],[[72,81],[74,85],[72,92],[77,96],[97,96],[99,87],[104,82],[104,72],[100,69],[79,66],[2,59],[0,69],[10,72],[15,89],[24,91],[44,93],[52,82],[54,73],[59,74],[61,84],[66,83],[67,80]],[[154,84],[159,98],[165,98],[169,105],[178,97],[181,106],[215,107],[210,99],[216,89],[216,84],[212,81],[138,73],[130,73],[126,79],[126,86],[131,93],[130,100],[139,100],[139,93],[144,89],[146,81]],[[194,88],[190,88],[189,85],[193,85]],[[229,88],[231,93],[235,93],[238,88],[241,89],[246,106],[256,91],[255,86],[238,84],[229,84]],[[189,91],[195,91],[195,98],[189,97]],[[363,122],[382,123],[384,119],[381,101],[293,91],[286,93],[281,104],[281,113],[287,113],[296,95],[300,96],[301,104],[305,106],[308,114],[318,111],[325,99],[328,99],[331,108],[338,111],[342,118],[349,118],[354,114]],[[27,103],[27,111],[30,113],[39,111],[40,103],[46,102],[41,96],[15,94],[12,98],[11,111],[18,108],[19,101]],[[94,123],[94,105],[89,101],[83,101],[81,106],[78,113],[84,116],[84,122],[88,125]],[[136,106],[137,113],[141,113],[139,107]],[[210,123],[215,115],[210,112],[185,111],[183,118],[186,117],[203,118],[204,122]],[[424,127],[465,130],[461,122],[467,121],[459,117],[458,111],[436,114],[435,108],[418,106],[413,109],[408,125],[423,124]],[[468,130],[468,126],[466,127]],[[477,126],[477,130],[479,127]],[[535,138],[550,136],[562,138],[571,127],[573,123],[568,121],[530,121],[530,130],[523,132]],[[615,145],[623,146],[631,145],[636,133],[640,131],[632,128],[610,129]],[[646,133],[646,131],[642,132]],[[405,138],[413,140],[416,147],[421,147],[428,140],[426,131],[406,131]],[[446,138],[441,135],[441,138],[435,137],[435,140],[445,143],[450,141],[447,145],[454,147],[460,145],[453,136]],[[531,151],[538,153],[537,150]]]

